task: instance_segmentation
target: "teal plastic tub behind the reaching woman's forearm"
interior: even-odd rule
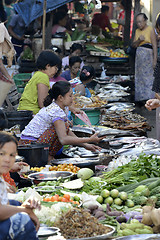
[[[99,118],[100,118],[100,110],[96,109],[96,110],[84,110],[84,112],[87,114],[90,122],[92,125],[99,125]],[[86,125],[81,119],[79,119],[78,117],[75,117],[75,115],[73,113],[71,113],[72,117],[73,117],[73,125]]]

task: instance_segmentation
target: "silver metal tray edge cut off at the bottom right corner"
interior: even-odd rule
[[[160,240],[160,234],[138,234],[119,237],[115,240]]]

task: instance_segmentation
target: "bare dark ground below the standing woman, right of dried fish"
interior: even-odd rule
[[[136,113],[145,117],[151,126],[151,131],[147,131],[147,136],[156,138],[156,110],[148,111],[145,107],[136,107]]]

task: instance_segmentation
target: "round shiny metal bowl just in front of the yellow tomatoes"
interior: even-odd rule
[[[28,178],[34,182],[34,184],[38,184],[41,181],[53,181],[57,180],[59,177],[61,178],[69,178],[72,177],[74,173],[67,171],[52,171],[52,172],[38,172],[31,173],[28,175]]]

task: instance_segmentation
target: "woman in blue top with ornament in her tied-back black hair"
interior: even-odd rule
[[[95,70],[92,66],[84,66],[79,76],[81,83],[73,89],[73,92],[80,93],[80,95],[90,98],[91,93],[87,88],[87,84],[93,80],[94,75]]]

